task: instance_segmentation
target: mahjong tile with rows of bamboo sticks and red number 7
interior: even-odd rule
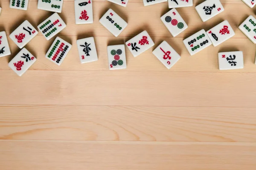
[[[64,28],[66,28],[66,24],[61,19],[61,17],[55,12],[49,18],[44,20],[43,23],[38,25],[38,29],[44,35],[46,40],[50,40]]]

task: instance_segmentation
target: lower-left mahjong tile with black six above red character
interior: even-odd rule
[[[9,62],[9,67],[12,68],[18,76],[22,76],[35,61],[36,58],[26,48],[22,48]]]

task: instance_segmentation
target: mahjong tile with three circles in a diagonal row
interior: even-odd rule
[[[176,37],[178,34],[188,28],[187,24],[175,8],[164,14],[161,17],[161,21],[172,34],[172,37]]]

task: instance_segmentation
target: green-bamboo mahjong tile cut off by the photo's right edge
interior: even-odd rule
[[[241,23],[239,29],[256,44],[256,19],[252,15]]]

